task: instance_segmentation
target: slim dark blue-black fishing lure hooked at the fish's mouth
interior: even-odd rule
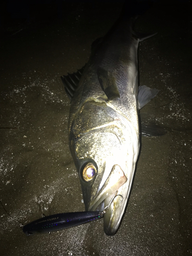
[[[103,214],[102,211],[79,211],[50,215],[25,225],[23,231],[27,236],[49,233],[98,220],[103,217]]]

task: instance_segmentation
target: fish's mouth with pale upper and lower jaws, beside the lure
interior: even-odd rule
[[[104,232],[108,236],[113,236],[116,233],[123,216],[126,198],[123,198],[124,193],[122,192],[124,189],[122,187],[126,181],[127,178],[123,170],[118,164],[115,164],[104,185],[89,203],[88,210],[103,212]]]

